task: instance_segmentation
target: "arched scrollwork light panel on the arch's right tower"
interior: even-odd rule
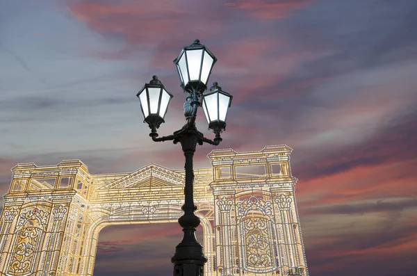
[[[241,268],[252,273],[277,270],[272,202],[251,196],[236,206]]]

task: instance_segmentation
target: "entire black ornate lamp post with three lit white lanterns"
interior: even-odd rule
[[[152,140],[155,142],[173,140],[174,144],[180,143],[186,157],[185,202],[181,208],[184,213],[178,219],[179,225],[183,227],[183,240],[175,247],[175,254],[171,259],[174,263],[174,276],[202,276],[204,263],[207,261],[202,245],[195,238],[195,228],[200,224],[200,220],[194,213],[197,206],[194,204],[193,193],[193,156],[197,144],[219,145],[222,141],[220,133],[226,128],[226,115],[232,96],[222,91],[216,82],[208,92],[204,92],[216,61],[217,58],[200,44],[199,40],[194,40],[189,47],[183,47],[179,56],[175,58],[174,64],[179,74],[180,86],[186,92],[183,112],[187,123],[178,131],[174,131],[172,135],[158,137],[156,131],[161,123],[165,122],[163,118],[172,98],[170,92],[158,80],[158,76],[153,76],[152,81],[145,84],[137,95],[145,117],[144,122],[147,122],[151,129],[149,136]],[[195,127],[197,108],[201,106],[200,99],[208,129],[212,129],[215,133],[213,140],[205,138],[203,133]]]

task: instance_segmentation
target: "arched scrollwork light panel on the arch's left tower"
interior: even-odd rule
[[[24,276],[34,273],[33,266],[40,253],[48,216],[48,212],[38,208],[21,213],[7,275]]]

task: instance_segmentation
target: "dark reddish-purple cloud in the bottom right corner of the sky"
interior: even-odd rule
[[[350,275],[360,270],[363,272],[369,270],[369,273],[384,275],[387,270],[398,269],[404,273],[400,275],[411,275],[412,268],[409,267],[411,263],[407,255],[417,249],[415,233],[416,227],[414,226],[391,232],[379,231],[372,234],[338,236],[334,240],[334,244],[338,245],[337,248],[334,244],[322,243],[313,250],[306,250],[310,263],[316,263],[309,266],[309,270],[311,273],[315,271],[322,275],[331,275],[335,272],[338,275]],[[398,265],[386,263],[384,260],[387,257]],[[349,263],[349,266],[342,268],[345,266],[343,263]],[[370,266],[373,269],[370,269]]]

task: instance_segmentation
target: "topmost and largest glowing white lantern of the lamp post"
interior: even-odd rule
[[[194,40],[193,44],[183,47],[181,53],[174,59],[175,67],[185,92],[196,91],[202,94],[207,89],[208,77],[217,58],[208,48]]]

